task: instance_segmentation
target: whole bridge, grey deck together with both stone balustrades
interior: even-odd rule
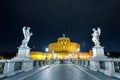
[[[114,68],[106,68],[112,66],[109,63],[113,62]],[[59,61],[52,63],[49,60],[5,60],[1,61],[0,77],[2,80],[120,80],[120,68],[118,68],[120,65],[117,65],[117,62],[118,60],[109,60],[104,65],[100,61],[98,62],[99,69],[95,71],[90,68],[88,60],[64,61],[63,63]],[[33,63],[33,65],[30,66],[28,63]]]

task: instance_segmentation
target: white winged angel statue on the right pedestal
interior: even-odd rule
[[[99,36],[101,34],[101,29],[98,27],[97,30],[95,28],[93,28],[92,30],[93,30],[92,41],[93,41],[95,47],[100,47]]]

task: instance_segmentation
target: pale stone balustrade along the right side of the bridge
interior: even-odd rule
[[[108,76],[120,78],[120,59],[77,60],[77,64]]]

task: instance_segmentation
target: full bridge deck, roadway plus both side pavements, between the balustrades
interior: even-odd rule
[[[2,80],[120,80],[74,64],[52,64]]]

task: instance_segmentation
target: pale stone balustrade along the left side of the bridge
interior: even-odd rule
[[[48,62],[46,60],[0,60],[0,78],[42,67]]]

